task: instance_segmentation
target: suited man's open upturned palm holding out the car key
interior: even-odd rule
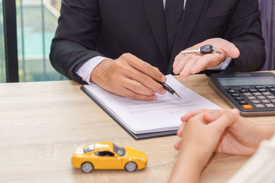
[[[239,49],[234,44],[222,38],[211,38],[200,42],[188,49],[197,49],[203,45],[212,45],[219,48],[221,53],[197,54],[197,53],[179,53],[173,63],[173,72],[181,77],[187,77],[190,74],[199,73],[205,69],[214,68],[223,62],[226,58],[238,58]],[[186,49],[186,50],[188,50]]]

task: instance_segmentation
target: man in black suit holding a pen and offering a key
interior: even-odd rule
[[[259,17],[257,0],[63,0],[50,60],[76,82],[154,100],[164,74],[261,69]],[[206,44],[222,54],[180,53]]]

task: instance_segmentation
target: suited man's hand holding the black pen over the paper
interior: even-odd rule
[[[166,90],[156,82],[166,82],[166,77],[155,66],[151,66],[124,53],[116,60],[105,59],[91,72],[90,82],[115,95],[137,100],[156,100],[155,93],[165,94]]]

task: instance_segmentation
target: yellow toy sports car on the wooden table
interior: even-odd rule
[[[84,173],[94,169],[125,169],[133,172],[144,169],[147,156],[134,147],[119,147],[109,142],[78,147],[72,156],[72,165]]]

